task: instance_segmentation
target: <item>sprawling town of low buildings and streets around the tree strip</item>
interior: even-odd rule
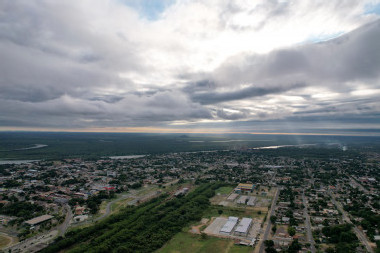
[[[3,164],[2,250],[37,252],[130,206],[223,182],[202,219],[158,252],[182,252],[181,240],[238,252],[379,252],[379,154],[316,149]]]

